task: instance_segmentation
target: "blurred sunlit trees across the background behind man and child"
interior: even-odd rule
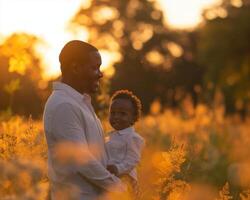
[[[205,10],[203,22],[192,31],[171,29],[156,1],[148,0],[92,0],[70,23],[87,28],[97,48],[119,55],[114,75],[105,81],[106,94],[132,90],[148,113],[155,100],[163,108],[178,107],[191,96],[194,105],[209,105],[220,91],[228,113],[245,115],[250,107],[250,3],[237,2],[224,0]],[[38,40],[14,34],[0,45],[0,110],[41,114],[51,87],[43,84],[33,49]]]

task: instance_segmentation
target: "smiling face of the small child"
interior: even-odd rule
[[[134,108],[128,99],[115,99],[111,102],[109,122],[115,130],[128,128],[134,123]]]

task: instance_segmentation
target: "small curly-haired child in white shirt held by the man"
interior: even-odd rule
[[[119,90],[111,98],[109,122],[114,128],[106,142],[109,155],[107,169],[131,183],[134,198],[138,199],[136,165],[140,161],[144,139],[133,125],[141,114],[140,100],[128,90]]]

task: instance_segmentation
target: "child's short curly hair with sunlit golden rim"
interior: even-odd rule
[[[115,99],[130,100],[134,107],[134,115],[135,115],[134,122],[139,120],[139,117],[141,116],[141,112],[142,112],[142,104],[141,104],[140,99],[136,95],[134,95],[133,92],[129,90],[118,90],[112,95],[111,102],[114,101]]]

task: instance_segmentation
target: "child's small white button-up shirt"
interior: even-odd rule
[[[141,159],[144,139],[133,127],[111,132],[106,138],[109,165],[115,165],[119,175],[127,174],[137,180],[136,165]]]

